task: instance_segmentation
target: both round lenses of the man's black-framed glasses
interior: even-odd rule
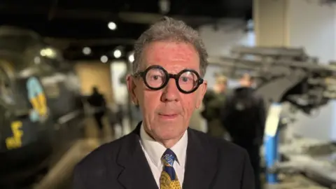
[[[159,88],[162,85],[165,85],[169,80],[169,76],[165,74],[162,69],[153,68],[150,69],[146,74],[146,83],[153,88]],[[191,91],[197,87],[198,77],[192,71],[183,72],[178,78],[178,85],[181,87],[181,90]]]

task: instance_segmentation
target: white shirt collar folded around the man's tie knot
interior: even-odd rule
[[[160,167],[161,165],[161,157],[163,153],[167,150],[165,146],[160,144],[158,141],[155,141],[151,136],[147,134],[144,129],[144,123],[141,124],[140,129],[140,138],[141,144],[144,147],[144,150],[151,158],[154,165]],[[186,153],[188,146],[188,132],[184,132],[182,138],[172,147],[170,148],[176,155],[176,158],[182,167],[186,165]]]

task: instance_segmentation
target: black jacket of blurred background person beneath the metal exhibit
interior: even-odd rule
[[[242,109],[238,109],[238,105]],[[244,146],[261,146],[264,139],[266,112],[264,100],[251,87],[238,87],[222,106],[221,120],[233,141]]]

